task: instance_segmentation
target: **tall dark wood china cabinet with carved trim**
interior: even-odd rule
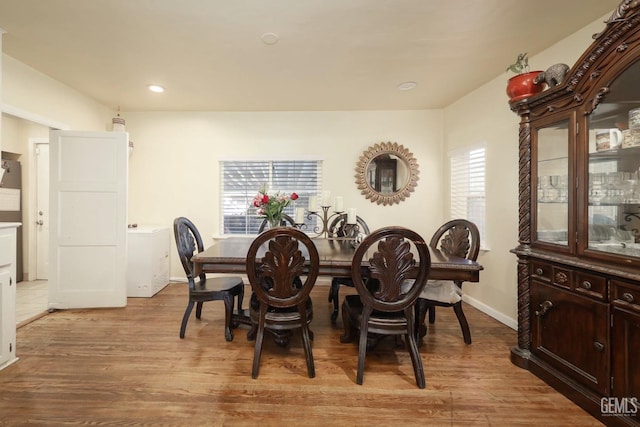
[[[520,116],[514,364],[640,425],[640,1]]]

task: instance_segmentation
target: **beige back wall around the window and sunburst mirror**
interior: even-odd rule
[[[324,189],[372,229],[405,225],[428,238],[442,222],[440,110],[122,115],[135,145],[129,222],[171,225],[187,216],[210,243],[220,232],[219,161],[260,157],[322,159]],[[355,185],[359,156],[383,141],[409,148],[420,166],[416,191],[399,205],[371,203]],[[174,255],[171,275],[183,277]]]

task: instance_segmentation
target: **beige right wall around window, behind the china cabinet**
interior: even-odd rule
[[[578,60],[600,32],[604,15],[592,24],[529,59],[532,70]],[[514,56],[517,52],[514,53]],[[508,64],[505,64],[506,68]],[[509,75],[501,74],[444,110],[444,155],[449,150],[486,143],[487,239],[480,254],[485,270],[479,284],[465,285],[468,301],[512,327],[517,325],[516,257],[518,244],[518,125],[505,92]],[[448,200],[445,200],[448,206]],[[445,217],[448,213],[445,213]]]

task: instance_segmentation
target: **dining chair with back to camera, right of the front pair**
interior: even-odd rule
[[[370,253],[368,262],[363,262]],[[367,342],[373,335],[404,336],[409,347],[416,384],[425,387],[422,359],[414,332],[414,303],[431,270],[426,242],[403,227],[385,227],[367,236],[356,248],[352,279],[357,295],[342,303],[344,335],[352,342],[359,331],[356,382],[362,384]],[[365,282],[365,278],[367,278]]]

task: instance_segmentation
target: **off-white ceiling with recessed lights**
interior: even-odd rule
[[[114,110],[427,109],[618,3],[0,0],[0,28],[4,53]],[[417,87],[398,90],[407,81]]]

